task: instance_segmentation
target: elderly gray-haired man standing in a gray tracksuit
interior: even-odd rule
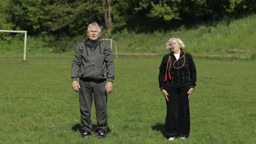
[[[110,45],[98,38],[100,34],[101,28],[96,22],[88,26],[89,39],[76,46],[71,67],[72,88],[79,92],[82,137],[88,137],[92,133],[90,116],[94,95],[97,117],[95,132],[99,139],[106,136],[107,94],[112,92],[114,80],[113,53]]]

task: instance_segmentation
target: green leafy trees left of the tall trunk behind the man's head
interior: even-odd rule
[[[101,7],[94,0],[5,0],[1,1],[0,9],[1,17],[5,18],[0,24],[1,29],[22,29],[30,35],[82,34],[87,23],[102,15]]]

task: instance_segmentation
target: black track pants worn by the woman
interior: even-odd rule
[[[189,136],[190,116],[188,94],[190,86],[174,88],[165,86],[169,101],[166,101],[166,137]]]

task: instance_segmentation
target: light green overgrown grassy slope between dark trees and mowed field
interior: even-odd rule
[[[110,35],[117,43],[118,53],[166,53],[166,42],[171,37],[182,38],[186,47],[185,51],[196,55],[220,55],[228,58],[256,58],[256,15],[232,20],[229,25],[226,21],[220,21],[216,26],[199,25],[194,28],[180,27],[176,31],[154,31],[152,33],[129,32],[124,29]],[[0,46],[0,53],[22,52],[23,35],[16,35],[10,44]],[[103,35],[102,35],[103,36]],[[28,53],[49,53],[74,51],[82,39],[87,35],[77,37],[40,36],[27,39]],[[102,37],[104,38],[104,37]],[[1,41],[2,42],[2,41]],[[3,41],[4,42],[4,41]],[[109,41],[107,41],[109,42]],[[113,52],[115,52],[113,43]],[[218,56],[216,56],[218,58]],[[233,58],[232,58],[233,57]]]

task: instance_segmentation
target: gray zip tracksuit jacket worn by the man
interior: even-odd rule
[[[113,53],[110,45],[98,39],[94,52],[90,50],[87,40],[80,42],[75,48],[75,56],[71,66],[71,79],[77,77],[88,80],[114,81]]]

